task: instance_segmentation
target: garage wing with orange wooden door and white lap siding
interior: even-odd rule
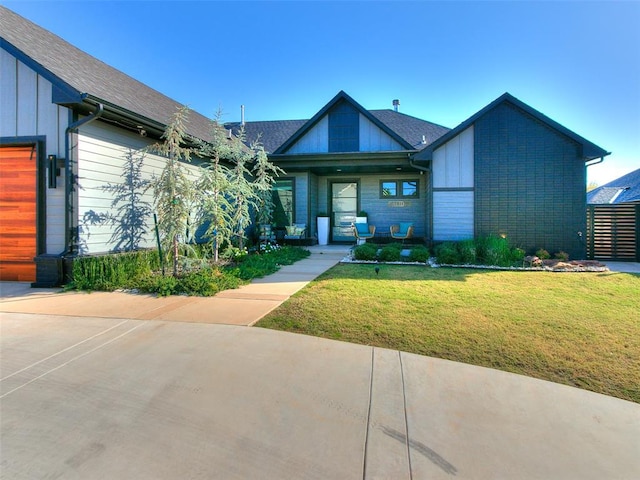
[[[116,250],[113,191],[179,107],[0,6],[0,279],[57,285],[76,255]],[[187,130],[206,139],[210,120],[191,112]],[[140,181],[163,164],[147,154]],[[136,221],[127,243],[155,246],[153,218]]]

